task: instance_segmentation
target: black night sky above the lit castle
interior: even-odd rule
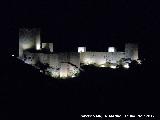
[[[6,5],[9,51],[18,47],[19,27],[40,27],[43,41],[53,41],[57,50],[88,46],[102,51],[108,45],[123,49],[130,41],[139,43],[144,54],[158,47],[160,8],[153,0],[14,0]]]

